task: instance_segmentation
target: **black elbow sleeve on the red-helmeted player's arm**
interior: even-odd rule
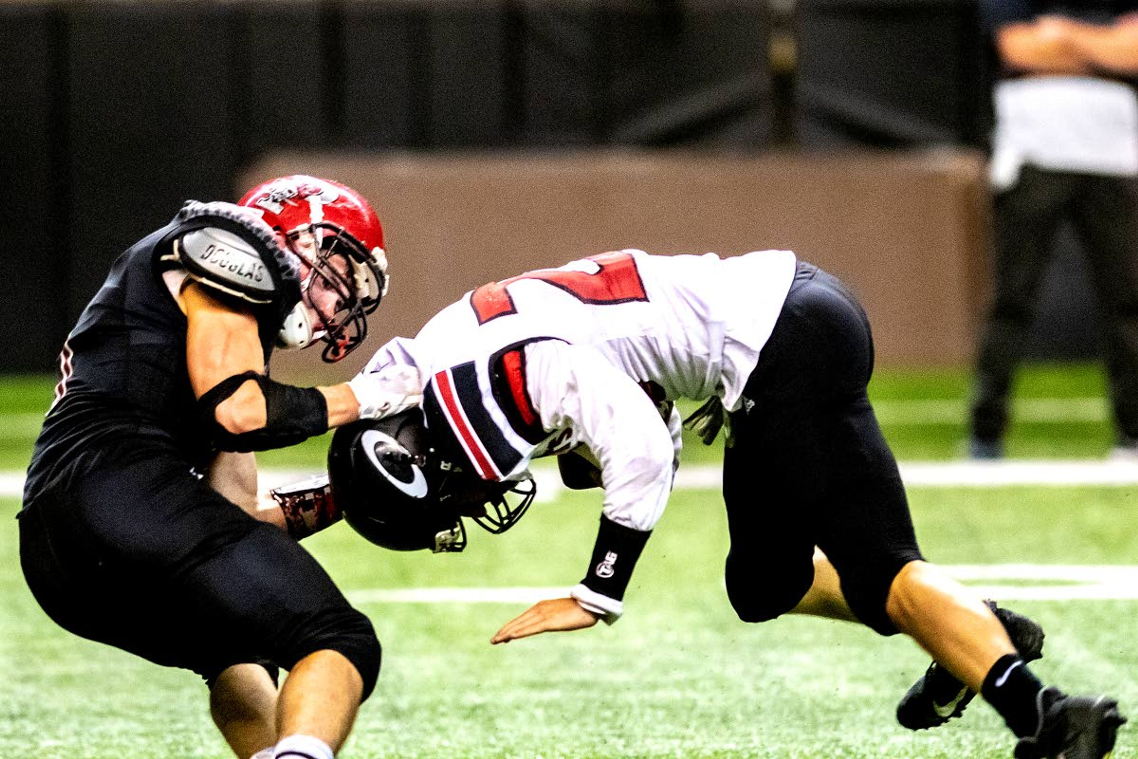
[[[265,396],[265,426],[234,435],[217,422],[217,406],[248,381]],[[222,451],[247,453],[296,445],[328,431],[328,402],[314,387],[294,387],[248,371],[223,379],[198,398],[198,415],[209,437]]]

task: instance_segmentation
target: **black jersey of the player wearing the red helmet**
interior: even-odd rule
[[[56,401],[35,443],[27,504],[59,467],[93,447],[134,439],[173,449],[188,467],[214,453],[185,366],[187,319],[163,272],[176,267],[178,218],[127,249],[67,337]],[[256,313],[265,362],[280,328],[275,307]]]

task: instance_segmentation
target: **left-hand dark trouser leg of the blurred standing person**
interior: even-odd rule
[[[995,292],[980,338],[971,407],[975,457],[1003,455],[1012,376],[1069,192],[1066,175],[1025,166],[1016,185],[995,198]]]

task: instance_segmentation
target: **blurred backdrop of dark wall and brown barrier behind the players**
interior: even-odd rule
[[[184,199],[296,171],[385,221],[377,347],[577,255],[789,247],[851,282],[881,361],[971,361],[990,91],[970,0],[0,0],[0,371],[50,370]],[[1033,357],[1094,349],[1073,246]]]

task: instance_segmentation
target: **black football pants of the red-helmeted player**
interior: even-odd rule
[[[19,534],[32,594],[76,635],[211,683],[232,665],[289,669],[335,650],[365,695],[374,685],[372,625],[316,560],[162,446],[81,455],[34,495]]]

